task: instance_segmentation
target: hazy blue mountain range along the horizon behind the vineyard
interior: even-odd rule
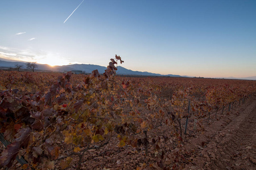
[[[22,65],[22,69],[26,69],[26,63],[27,62],[20,62],[20,61],[10,61],[6,59],[0,58],[0,67],[9,69],[9,68],[15,68],[15,65]],[[37,70],[42,71],[56,71],[56,72],[65,72],[65,71],[72,71],[72,70],[79,70],[83,73],[92,73],[93,70],[98,70],[99,73],[104,73],[106,70],[106,67],[99,66],[99,65],[90,65],[90,64],[72,64],[72,65],[64,65],[64,66],[49,66],[47,64],[38,64]],[[1,69],[1,68],[0,68]],[[125,67],[118,66],[117,70],[118,75],[131,75],[131,76],[173,76],[173,77],[193,77],[188,75],[174,75],[174,74],[156,74],[156,73],[149,73],[147,71],[133,71],[126,69]],[[217,79],[243,79],[243,80],[256,80],[256,76],[249,76],[245,78],[236,78],[233,76],[230,77],[217,77]]]

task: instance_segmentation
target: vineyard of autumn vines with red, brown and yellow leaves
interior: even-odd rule
[[[255,101],[253,80],[126,78],[122,62],[102,75],[0,71],[1,166],[189,169],[189,141]]]

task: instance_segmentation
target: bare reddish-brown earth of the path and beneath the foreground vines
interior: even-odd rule
[[[193,131],[192,120],[184,146],[177,148],[171,140],[166,142],[160,164],[152,148],[145,155],[144,150],[119,148],[117,143],[110,142],[103,148],[90,150],[84,156],[82,169],[162,169],[162,165],[172,169],[174,164],[178,165],[175,169],[256,169],[256,95],[231,112],[217,114],[217,119],[213,114],[209,125],[205,119],[204,131]],[[175,163],[177,151],[184,157]],[[59,168],[57,165],[56,169]],[[15,163],[10,169],[20,166]],[[76,169],[75,164],[69,169]]]

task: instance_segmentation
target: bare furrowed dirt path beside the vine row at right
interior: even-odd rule
[[[256,96],[184,147],[192,153],[184,169],[256,169]]]

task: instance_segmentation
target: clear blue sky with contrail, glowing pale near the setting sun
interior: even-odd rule
[[[0,8],[0,58],[108,66],[117,54],[134,71],[256,75],[255,0],[1,0]]]

